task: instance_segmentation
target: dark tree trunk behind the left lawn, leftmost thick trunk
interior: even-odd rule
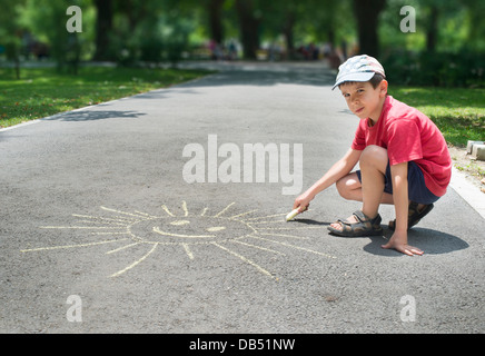
[[[98,18],[96,20],[95,60],[109,60],[109,32],[112,26],[111,0],[95,0]]]

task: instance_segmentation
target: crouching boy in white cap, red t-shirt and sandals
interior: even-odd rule
[[[388,96],[385,78],[380,63],[366,55],[338,68],[333,89],[340,89],[360,121],[347,154],[295,199],[294,209],[306,210],[318,192],[335,182],[345,199],[363,201],[363,207],[347,220],[331,224],[331,234],[382,236],[379,205],[393,204],[396,219],[389,228],[394,234],[382,247],[423,255],[407,245],[407,230],[446,192],[452,158],[438,128],[417,109]],[[357,162],[360,170],[350,172]]]

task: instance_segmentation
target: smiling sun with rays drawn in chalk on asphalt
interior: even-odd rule
[[[175,214],[166,205],[161,206],[162,215],[151,215],[139,210],[121,211],[112,208],[100,207],[107,211],[106,216],[89,216],[72,214],[78,218],[75,226],[41,226],[42,229],[80,229],[88,234],[98,236],[110,236],[93,243],[48,246],[22,249],[21,253],[49,251],[57,249],[70,249],[81,247],[92,247],[107,244],[125,244],[107,251],[107,255],[116,254],[135,246],[147,248],[143,256],[135,259],[128,265],[109,275],[108,277],[119,277],[146,260],[157,248],[175,245],[180,246],[189,259],[195,259],[198,248],[216,247],[235,258],[239,258],[245,264],[256,268],[263,275],[277,279],[274,273],[268,271],[259,264],[239,253],[236,246],[257,249],[268,254],[285,256],[283,251],[274,249],[273,246],[284,246],[287,248],[301,250],[326,258],[335,256],[309,249],[296,245],[294,241],[286,240],[308,239],[300,235],[291,235],[294,230],[323,228],[321,226],[291,227],[283,221],[285,214],[268,216],[255,215],[258,209],[248,210],[240,214],[230,212],[234,210],[235,202],[229,204],[224,209],[212,215],[206,207],[201,211],[189,212],[187,202],[181,202],[181,214]],[[290,234],[287,234],[290,233]],[[284,240],[286,239],[286,240]]]

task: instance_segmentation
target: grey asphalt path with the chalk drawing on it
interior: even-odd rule
[[[0,332],[483,333],[485,220],[449,189],[422,257],[329,236],[334,188],[285,222],[357,119],[318,63],[222,69],[0,132]]]

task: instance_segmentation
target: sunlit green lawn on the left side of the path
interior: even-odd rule
[[[209,71],[83,67],[79,75],[55,68],[0,68],[0,127],[96,105],[192,80]]]

